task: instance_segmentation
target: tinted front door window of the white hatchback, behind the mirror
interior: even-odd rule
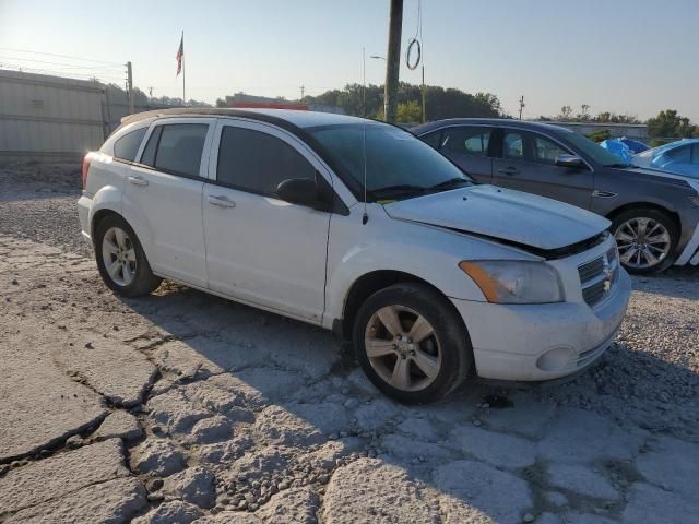
[[[316,169],[282,140],[259,131],[226,126],[218,147],[217,181],[273,196],[288,178],[316,178]]]

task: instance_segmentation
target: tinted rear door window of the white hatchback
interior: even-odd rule
[[[198,177],[209,124],[168,123],[153,130],[142,164],[165,172]]]

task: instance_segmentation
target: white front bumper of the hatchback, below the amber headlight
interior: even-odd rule
[[[476,372],[484,379],[545,381],[592,365],[612,344],[631,293],[620,271],[604,303],[498,305],[451,299],[473,346]]]

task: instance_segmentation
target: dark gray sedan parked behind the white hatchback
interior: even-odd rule
[[[450,119],[412,131],[482,183],[541,194],[606,216],[632,273],[699,264],[699,180],[624,164],[565,128]]]

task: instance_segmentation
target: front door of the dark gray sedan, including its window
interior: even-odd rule
[[[590,209],[594,174],[589,166],[556,166],[559,155],[574,154],[555,139],[521,129],[498,130],[493,183]]]

